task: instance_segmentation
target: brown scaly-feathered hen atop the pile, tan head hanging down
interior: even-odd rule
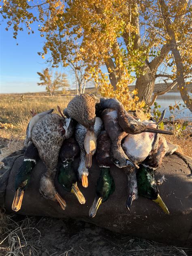
[[[94,133],[96,102],[96,97],[93,94],[80,94],[70,100],[66,109],[64,109],[64,115],[72,117],[87,129],[84,139],[84,148],[86,151],[85,166],[87,168],[91,167],[92,153],[96,150],[97,139]]]

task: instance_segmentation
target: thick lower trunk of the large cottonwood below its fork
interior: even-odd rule
[[[156,70],[152,70],[145,64],[144,74],[137,77],[135,88],[138,90],[139,100],[144,100],[146,104],[151,102],[151,96],[154,91]]]

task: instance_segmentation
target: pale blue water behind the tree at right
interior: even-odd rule
[[[192,113],[189,109],[186,109],[186,107],[183,107],[184,102],[181,99],[181,95],[179,92],[168,92],[167,94],[160,95],[156,99],[156,102],[158,105],[161,105],[160,110],[163,111],[166,109],[165,118],[169,118],[171,116],[171,113],[169,111],[169,106],[172,104],[172,106],[175,105],[175,102],[178,104],[181,103],[181,106],[179,106],[180,110],[178,111],[176,109],[175,111],[175,118],[176,119],[184,119],[192,121]]]

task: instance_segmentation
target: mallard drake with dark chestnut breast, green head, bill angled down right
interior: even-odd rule
[[[60,149],[59,158],[61,166],[58,181],[64,190],[75,194],[80,204],[85,203],[85,198],[77,186],[77,173],[73,168],[73,160],[80,153],[79,145],[74,138],[66,139]]]

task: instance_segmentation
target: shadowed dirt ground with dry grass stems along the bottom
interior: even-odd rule
[[[87,222],[4,214],[1,220],[0,256],[192,255],[192,249],[120,235]]]

